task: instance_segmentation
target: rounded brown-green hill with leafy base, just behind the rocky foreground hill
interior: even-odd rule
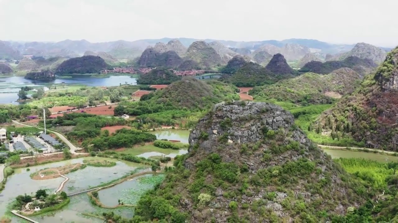
[[[121,102],[115,108],[115,115],[137,115],[136,127],[145,124],[177,124],[186,118],[185,123],[195,123],[199,113],[208,110],[213,104],[223,100],[238,100],[238,89],[219,81],[199,81],[186,77],[174,82],[150,98],[140,102]],[[190,119],[191,116],[195,118]]]

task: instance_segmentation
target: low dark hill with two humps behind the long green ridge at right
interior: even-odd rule
[[[336,69],[348,67],[359,73],[362,77],[374,71],[377,64],[373,60],[361,59],[355,56],[350,56],[342,61],[326,61],[324,63],[319,61],[311,61],[306,63],[299,71],[313,72],[319,74],[328,74]]]

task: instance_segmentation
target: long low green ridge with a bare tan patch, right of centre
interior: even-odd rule
[[[250,90],[254,99],[275,99],[294,104],[332,104],[336,99],[354,91],[361,77],[355,71],[341,68],[328,75],[305,73],[295,78]]]

